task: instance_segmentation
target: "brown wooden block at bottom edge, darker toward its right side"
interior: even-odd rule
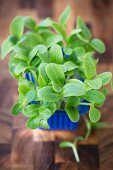
[[[54,142],[35,142],[33,150],[34,170],[54,170]]]

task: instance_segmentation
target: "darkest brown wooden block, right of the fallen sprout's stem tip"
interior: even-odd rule
[[[98,145],[78,145],[78,170],[99,170]]]

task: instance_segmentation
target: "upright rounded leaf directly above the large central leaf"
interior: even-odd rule
[[[63,53],[59,45],[53,45],[49,50],[49,57],[51,63],[62,64],[63,63]]]

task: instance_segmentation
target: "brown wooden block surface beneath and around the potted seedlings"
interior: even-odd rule
[[[15,15],[30,15],[37,20],[41,19],[38,12],[43,5],[34,6],[34,2],[36,0],[32,3],[30,0],[25,3],[22,0],[0,1],[0,43],[8,35],[9,23]],[[113,2],[62,0],[61,3],[61,0],[54,0],[53,9],[49,11],[53,18],[57,20],[67,4],[73,9],[68,31],[73,28],[76,16],[81,15],[90,25],[94,36],[102,38],[107,45],[107,53],[100,56],[104,64],[98,66],[98,73],[113,73]],[[45,9],[48,10],[50,6]],[[47,10],[43,10],[43,16],[47,15]],[[10,11],[8,15],[7,11]],[[113,170],[113,93],[108,88],[109,96],[101,112],[102,120],[109,126],[94,132],[88,141],[78,145],[81,162],[77,164],[72,150],[60,149],[59,142],[72,141],[77,135],[82,135],[83,121],[75,132],[26,129],[26,119],[22,115],[10,115],[10,108],[17,99],[17,82],[9,75],[8,58],[0,62],[0,170]]]

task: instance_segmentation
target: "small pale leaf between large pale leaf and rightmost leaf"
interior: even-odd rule
[[[85,80],[84,82],[84,88],[86,86],[88,86],[88,90],[89,89],[100,89],[102,87],[102,80],[100,78],[95,78],[93,80]],[[85,90],[87,90],[87,88],[85,88]]]

